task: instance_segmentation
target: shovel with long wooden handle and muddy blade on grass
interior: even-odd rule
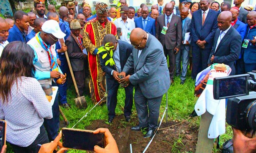
[[[62,41],[63,41],[63,39],[62,39]],[[65,46],[64,41],[61,44],[63,46]],[[79,95],[78,88],[77,88],[77,85],[76,85],[76,80],[75,80],[74,73],[73,73],[73,70],[72,70],[72,67],[71,67],[71,64],[70,64],[70,61],[69,61],[69,57],[68,57],[68,52],[67,51],[65,51],[65,55],[66,55],[66,58],[67,58],[68,67],[69,67],[69,70],[70,70],[70,73],[71,73],[71,77],[72,77],[72,80],[74,82],[74,86],[75,86],[76,93],[77,93],[77,98],[74,99],[76,107],[79,108],[79,109],[87,108],[87,102],[85,100],[85,97],[84,96],[80,97],[80,95]]]

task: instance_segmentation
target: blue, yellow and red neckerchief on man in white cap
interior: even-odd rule
[[[57,61],[54,60],[53,55],[52,55],[51,45],[46,45],[44,43],[42,38],[39,37],[40,33],[41,32],[37,33],[35,37],[36,37],[37,42],[40,43],[40,45],[48,52],[48,58],[49,58],[49,62],[51,65],[51,71],[59,71],[58,64],[56,64]]]

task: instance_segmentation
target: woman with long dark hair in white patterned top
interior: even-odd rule
[[[15,153],[36,152],[48,143],[43,118],[52,118],[51,104],[34,79],[34,50],[13,41],[0,57],[0,119],[7,122],[6,141]]]

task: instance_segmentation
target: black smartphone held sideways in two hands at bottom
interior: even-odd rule
[[[94,146],[105,147],[104,133],[94,134],[91,130],[62,128],[62,145],[65,148],[93,151]]]

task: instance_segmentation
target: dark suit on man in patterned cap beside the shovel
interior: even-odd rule
[[[65,45],[68,47],[68,56],[81,96],[85,89],[85,78],[89,75],[87,57],[71,35],[66,39]]]

